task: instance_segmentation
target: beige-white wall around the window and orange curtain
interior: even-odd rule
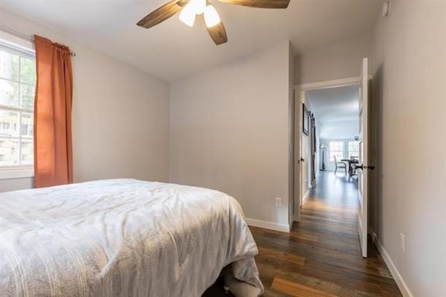
[[[74,180],[169,179],[169,84],[0,8],[0,24],[71,47]],[[0,192],[29,188],[0,180]]]

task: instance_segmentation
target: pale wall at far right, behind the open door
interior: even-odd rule
[[[446,296],[446,1],[391,2],[374,32],[382,154],[374,231],[403,294]]]

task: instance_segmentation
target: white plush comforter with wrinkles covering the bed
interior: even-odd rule
[[[256,243],[222,192],[132,179],[0,194],[0,296],[201,296],[232,264],[263,292]]]

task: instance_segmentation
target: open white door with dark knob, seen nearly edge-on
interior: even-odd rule
[[[357,212],[357,229],[360,236],[362,257],[367,258],[367,167],[368,167],[368,137],[369,137],[369,59],[362,60],[362,72],[360,79],[360,159],[357,170],[357,190],[359,197],[359,209]]]

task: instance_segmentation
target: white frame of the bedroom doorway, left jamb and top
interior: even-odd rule
[[[371,79],[372,76],[369,75],[369,79]],[[342,79],[331,79],[331,80],[324,80],[320,82],[309,82],[305,84],[295,84],[293,86],[294,89],[294,96],[293,96],[293,109],[294,109],[294,116],[292,121],[294,122],[294,137],[291,141],[291,145],[293,146],[293,164],[294,164],[294,170],[293,170],[293,221],[299,222],[300,221],[300,208],[302,208],[302,174],[300,174],[302,167],[300,165],[300,158],[301,158],[301,150],[302,150],[302,117],[298,116],[298,112],[302,114],[302,102],[300,100],[301,98],[301,92],[311,91],[311,90],[318,90],[318,89],[330,89],[330,88],[336,88],[339,86],[353,86],[358,85],[361,82],[360,76],[355,77],[345,77]],[[298,107],[298,109],[296,109]],[[296,123],[296,121],[299,121]],[[317,148],[316,148],[317,150]],[[319,156],[317,155],[317,158]],[[306,164],[305,164],[306,165]],[[298,176],[296,176],[298,175]]]

